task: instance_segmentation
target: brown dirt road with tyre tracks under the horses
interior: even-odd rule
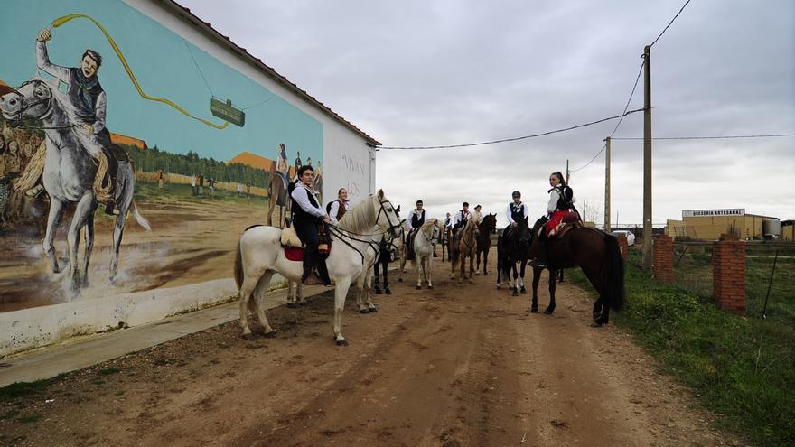
[[[4,403],[12,413],[0,414],[0,442],[736,444],[626,334],[591,328],[581,290],[562,284],[553,316],[528,314],[528,295],[495,290],[493,275],[458,284],[444,275],[449,264],[435,271],[435,290],[392,284],[378,313],[355,312],[349,298],[347,348],[332,342],[325,293],[268,312],[273,338],[242,340],[230,323]]]

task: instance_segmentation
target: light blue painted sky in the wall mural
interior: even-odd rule
[[[4,61],[0,79],[11,85],[19,85],[36,73],[35,38],[40,29],[66,14],[86,14],[108,30],[147,95],[169,98],[193,115],[220,124],[221,120],[210,114],[211,94],[201,79],[203,75],[215,97],[229,98],[236,107],[256,106],[246,110],[246,126],[218,130],[172,107],[145,100],[93,23],[85,19],[65,23],[52,30],[50,59],[57,65],[75,67],[86,48],[102,55],[99,81],[108,96],[111,132],[141,138],[172,153],[192,150],[220,161],[229,161],[242,151],[273,159],[282,142],[290,163],[296,150],[304,160],[322,156],[320,122],[123,2],[14,0],[4,9],[0,15],[5,36],[0,41]]]

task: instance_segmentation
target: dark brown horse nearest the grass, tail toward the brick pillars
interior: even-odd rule
[[[545,219],[533,226],[530,256],[538,257],[538,229]],[[621,310],[624,303],[624,261],[618,240],[596,228],[571,228],[563,237],[547,240],[547,270],[549,270],[549,305],[544,313],[555,311],[557,273],[563,268],[579,266],[599,298],[594,303],[593,326],[610,321],[610,310]],[[538,282],[541,268],[533,267],[533,302],[530,312],[538,312]]]

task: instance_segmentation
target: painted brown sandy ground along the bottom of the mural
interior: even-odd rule
[[[53,274],[45,262],[43,236],[6,232],[0,235],[0,312],[73,299],[101,299],[118,293],[196,284],[232,276],[234,249],[243,230],[267,221],[266,200],[138,201],[152,231],[132,217],[126,221],[115,281],[109,281],[113,219],[96,218],[96,238],[89,264],[89,288],[79,297],[70,292],[66,271]],[[66,216],[65,222],[70,221]],[[60,258],[67,257],[65,228],[56,237]],[[81,241],[79,257],[84,256]]]

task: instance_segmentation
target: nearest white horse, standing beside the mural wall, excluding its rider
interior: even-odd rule
[[[342,336],[342,311],[351,284],[365,276],[365,253],[369,249],[369,239],[373,233],[389,231],[399,234],[400,219],[392,203],[384,197],[384,191],[370,196],[359,205],[351,208],[342,217],[334,231],[334,243],[326,259],[329,276],[334,282],[334,340],[345,346],[348,341]],[[373,231],[375,229],[375,231]],[[240,326],[243,335],[249,336],[247,311],[252,312],[262,324],[266,333],[273,331],[267,323],[264,307],[264,293],[275,273],[288,281],[301,281],[304,265],[301,261],[290,261],[285,257],[281,246],[280,228],[256,226],[248,228],[240,237],[235,258],[235,281],[240,295]]]

